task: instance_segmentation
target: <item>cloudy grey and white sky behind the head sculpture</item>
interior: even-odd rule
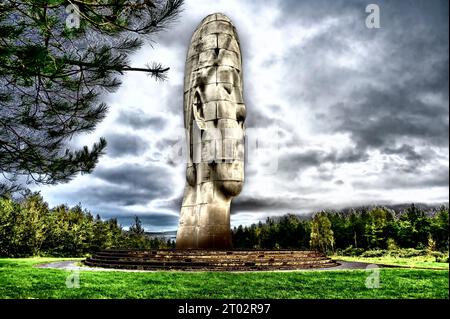
[[[366,5],[380,7],[369,29]],[[127,74],[105,97],[108,117],[73,145],[100,136],[107,154],[91,175],[40,188],[50,205],[81,202],[126,226],[175,230],[185,183],[183,72],[206,15],[237,28],[244,67],[246,181],[232,226],[269,215],[449,199],[448,1],[186,1],[178,21],[133,56],[169,78]]]

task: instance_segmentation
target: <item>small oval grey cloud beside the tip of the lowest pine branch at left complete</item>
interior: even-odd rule
[[[124,155],[140,155],[148,149],[148,143],[137,135],[115,134],[106,136],[108,142],[107,154],[112,157]]]

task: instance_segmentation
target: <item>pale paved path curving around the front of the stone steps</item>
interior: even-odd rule
[[[362,262],[348,262],[348,261],[340,261],[337,260],[339,266],[336,267],[327,267],[327,268],[309,268],[309,269],[297,269],[297,270],[256,270],[254,272],[263,272],[263,271],[313,271],[313,270],[348,270],[348,269],[366,269],[367,266],[371,265],[368,263]],[[66,261],[57,261],[48,264],[39,264],[36,265],[37,268],[50,268],[50,269],[61,269],[61,270],[87,270],[87,271],[123,271],[123,272],[155,272],[161,270],[134,270],[134,269],[114,269],[114,268],[100,268],[100,267],[88,267],[88,266],[80,266],[80,261],[78,260],[66,260]],[[370,268],[370,267],[369,267]],[[180,271],[182,270],[171,270],[171,271]],[[205,270],[200,270],[205,271]],[[190,272],[195,272],[190,270]],[[232,271],[232,272],[248,272],[248,271]]]

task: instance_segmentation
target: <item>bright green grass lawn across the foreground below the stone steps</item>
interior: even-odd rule
[[[70,271],[34,268],[64,259],[0,259],[0,298],[449,298],[448,270],[380,269],[380,288],[365,270],[296,272]]]

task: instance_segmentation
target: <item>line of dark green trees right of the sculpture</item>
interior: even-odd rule
[[[402,211],[385,207],[350,212],[323,211],[312,218],[288,214],[233,229],[235,248],[449,249],[448,207],[425,211],[412,204]]]

